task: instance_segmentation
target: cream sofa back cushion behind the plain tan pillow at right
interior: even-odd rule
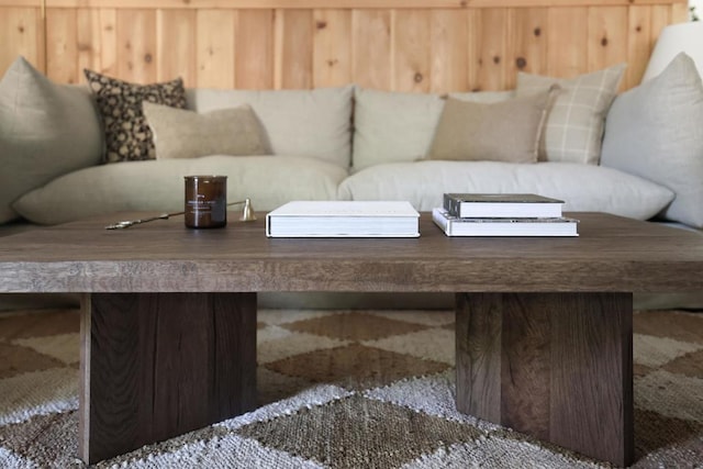
[[[512,91],[451,93],[453,98],[491,103]],[[384,163],[424,159],[429,152],[445,100],[438,93],[381,91],[357,87],[354,108],[355,170]]]

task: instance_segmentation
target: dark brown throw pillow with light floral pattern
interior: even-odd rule
[[[102,118],[105,136],[104,163],[155,159],[152,131],[142,110],[142,101],[172,108],[186,108],[183,81],[136,85],[83,70]]]

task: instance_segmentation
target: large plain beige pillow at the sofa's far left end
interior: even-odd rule
[[[102,133],[85,87],[51,81],[23,57],[0,80],[0,223],[23,193],[100,163]]]

